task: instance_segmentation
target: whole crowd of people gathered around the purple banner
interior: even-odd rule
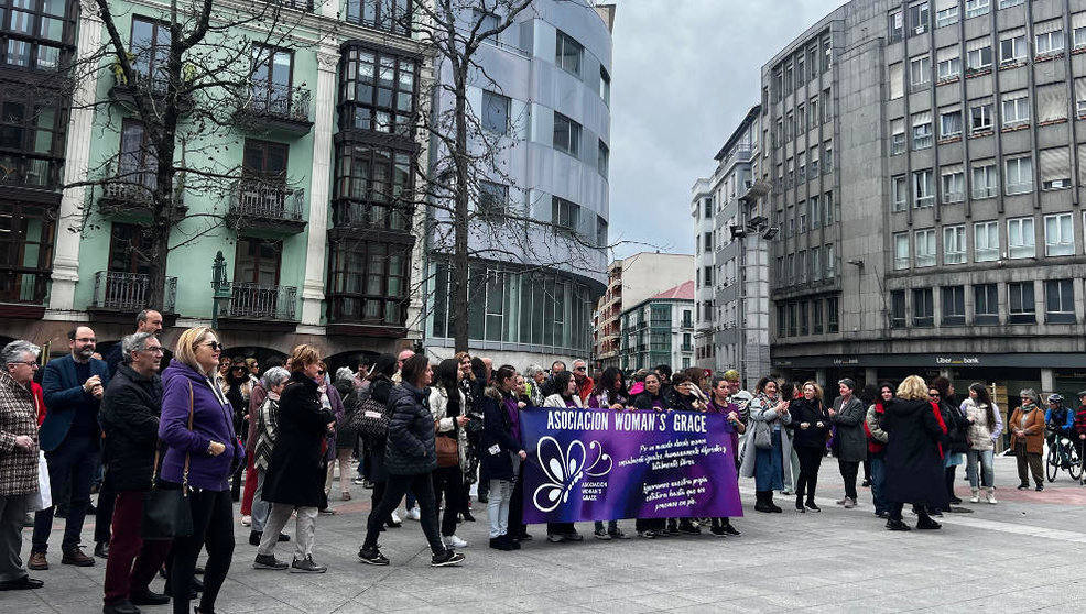
[[[937,529],[935,517],[964,511],[954,493],[963,464],[971,503],[996,504],[993,452],[1004,430],[1018,459],[1019,489],[1031,487],[1031,478],[1033,487],[1043,489],[1045,437],[1050,446],[1069,439],[1079,456],[1086,445],[1086,391],[1076,408],[1053,394],[1042,410],[1040,395],[1023,390],[1004,420],[984,384],[970,385],[959,402],[947,379],[916,375],[862,391],[843,379],[830,399],[817,382],[770,376],[747,392],[735,370],[713,375],[659,365],[626,374],[608,368],[591,376],[587,362],[575,360],[568,370],[555,361],[549,370],[530,365],[521,373],[467,352],[432,363],[404,350],[333,374],[309,344],[263,364],[225,357],[207,327],[184,330],[162,364],[161,328],[160,314],[142,311],[137,331],[101,360],[94,330],[77,327],[68,335],[68,354],[45,363],[40,376],[41,349],[33,343],[13,341],[0,351],[0,590],[43,585],[28,568],[48,569],[58,506],[66,508],[61,563],[89,567],[96,557],[106,559],[106,614],[135,614],[140,605],[171,601],[182,614],[194,599],[196,612],[214,612],[239,516],[257,548],[256,569],[323,573],[315,533],[318,518],[335,513],[329,497],[337,469],[341,501],[351,498],[352,482],[371,491],[361,562],[390,564],[379,539],[402,526],[397,511],[405,501],[405,517],[420,522],[431,564],[459,564],[458,550],[468,542],[456,529],[475,520],[473,493],[486,504],[488,546],[518,550],[532,539],[519,479],[531,453],[520,428],[525,408],[720,414],[737,471],[753,479],[756,512],[781,513],[778,492],[795,497],[796,513],[821,512],[818,474],[832,454],[844,482],[838,505],[862,505],[862,468],[873,513],[890,530],[912,528],[902,515],[906,504],[917,529]],[[146,518],[155,500],[149,494],[177,491],[191,529],[151,535]],[[96,515],[95,556],[80,544],[88,509]],[[287,562],[276,549],[292,540],[284,533],[292,519]],[[596,522],[593,537],[628,539],[620,520]],[[703,528],[740,535],[724,517],[634,520],[645,539]],[[24,525],[33,526],[25,567]],[[573,523],[546,525],[547,541],[583,539]],[[150,588],[156,574],[166,580],[162,593]]]

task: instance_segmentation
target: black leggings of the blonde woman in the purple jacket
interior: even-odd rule
[[[188,493],[188,502],[193,511],[193,535],[174,539],[170,553],[173,560],[170,567],[173,612],[192,612],[188,594],[202,548],[207,549],[207,564],[204,568],[204,594],[199,600],[199,610],[215,612],[215,599],[234,558],[234,502],[230,501],[230,491],[193,491]]]

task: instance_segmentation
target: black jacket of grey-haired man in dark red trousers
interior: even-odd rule
[[[146,491],[154,471],[162,413],[162,380],[120,364],[101,399],[106,471],[117,491]]]

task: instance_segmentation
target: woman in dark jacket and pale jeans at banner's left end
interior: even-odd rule
[[[513,497],[513,481],[520,473],[520,464],[528,458],[520,443],[520,420],[513,386],[517,370],[502,365],[495,374],[495,385],[486,390],[482,415],[486,429],[479,454],[482,471],[490,479],[490,498],[487,516],[490,520],[490,547],[496,550],[518,550],[517,536],[509,534],[509,509]],[[512,417],[517,416],[518,421]],[[519,520],[518,520],[519,522]],[[520,526],[514,526],[520,530]]]

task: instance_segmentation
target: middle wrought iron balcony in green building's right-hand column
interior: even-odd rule
[[[302,208],[305,190],[259,177],[245,177],[234,184],[227,222],[235,228],[252,228],[297,234],[305,229]]]

